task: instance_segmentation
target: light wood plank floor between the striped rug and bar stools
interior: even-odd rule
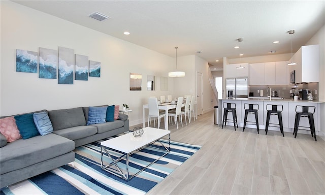
[[[325,194],[325,141],[311,135],[215,125],[213,112],[171,139],[202,148],[148,194]],[[164,126],[164,122],[161,122]]]

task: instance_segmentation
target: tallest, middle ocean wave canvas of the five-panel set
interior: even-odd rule
[[[58,84],[73,84],[75,54],[73,49],[59,47]]]

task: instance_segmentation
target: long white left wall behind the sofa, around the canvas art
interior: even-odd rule
[[[39,79],[35,73],[16,72],[16,49],[38,51],[39,47],[74,49],[89,60],[100,61],[101,78],[57,84],[57,79]],[[174,58],[122,41],[101,32],[30,9],[1,1],[1,100],[0,115],[41,109],[126,103],[133,112],[131,125],[142,123],[142,105],[149,96],[172,94],[160,90],[160,77],[168,76]],[[129,73],[143,76],[142,91],[129,91]],[[156,91],[146,90],[147,75],[156,76]]]

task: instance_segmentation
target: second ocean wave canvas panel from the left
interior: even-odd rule
[[[57,51],[40,47],[39,56],[39,78],[56,79]]]

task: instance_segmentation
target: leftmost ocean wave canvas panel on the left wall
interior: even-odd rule
[[[35,51],[16,50],[16,72],[37,73],[38,53]]]

